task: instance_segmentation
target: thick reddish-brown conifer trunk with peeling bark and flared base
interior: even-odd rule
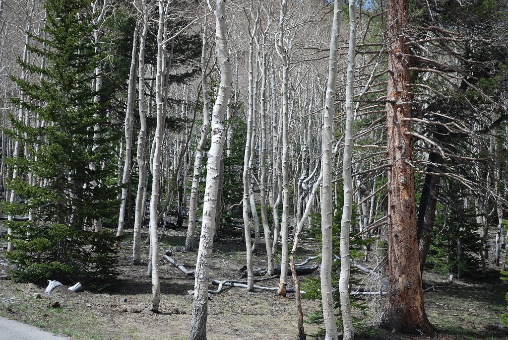
[[[434,333],[425,314],[417,241],[412,158],[409,57],[406,38],[408,0],[388,1],[388,287],[381,327],[404,333]],[[408,162],[409,161],[409,162]]]

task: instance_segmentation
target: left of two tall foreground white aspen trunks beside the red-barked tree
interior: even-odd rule
[[[328,64],[328,84],[326,88],[325,110],[323,112],[323,183],[321,187],[321,231],[323,234],[323,259],[321,262],[321,295],[323,299],[323,318],[326,328],[326,340],[337,340],[337,324],[333,312],[332,291],[332,146],[333,113],[337,77],[337,49],[342,19],[342,4],[335,0],[333,26],[330,38],[330,56]],[[342,243],[342,239],[341,239]],[[342,249],[342,246],[341,246]],[[349,258],[347,258],[349,263]],[[342,259],[341,259],[342,263]]]

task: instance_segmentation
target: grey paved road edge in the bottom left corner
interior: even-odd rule
[[[71,340],[37,327],[0,317],[0,340]]]

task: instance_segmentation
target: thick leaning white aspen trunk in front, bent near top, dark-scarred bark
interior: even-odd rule
[[[212,140],[208,151],[206,169],[205,197],[203,204],[203,225],[199,241],[194,284],[193,316],[190,324],[189,340],[206,339],[206,318],[208,302],[208,270],[212,255],[213,235],[215,233],[215,210],[219,186],[220,160],[226,141],[224,114],[231,95],[233,78],[231,61],[226,46],[226,2],[216,0],[215,5],[215,50],[220,68],[220,85],[212,111]]]

